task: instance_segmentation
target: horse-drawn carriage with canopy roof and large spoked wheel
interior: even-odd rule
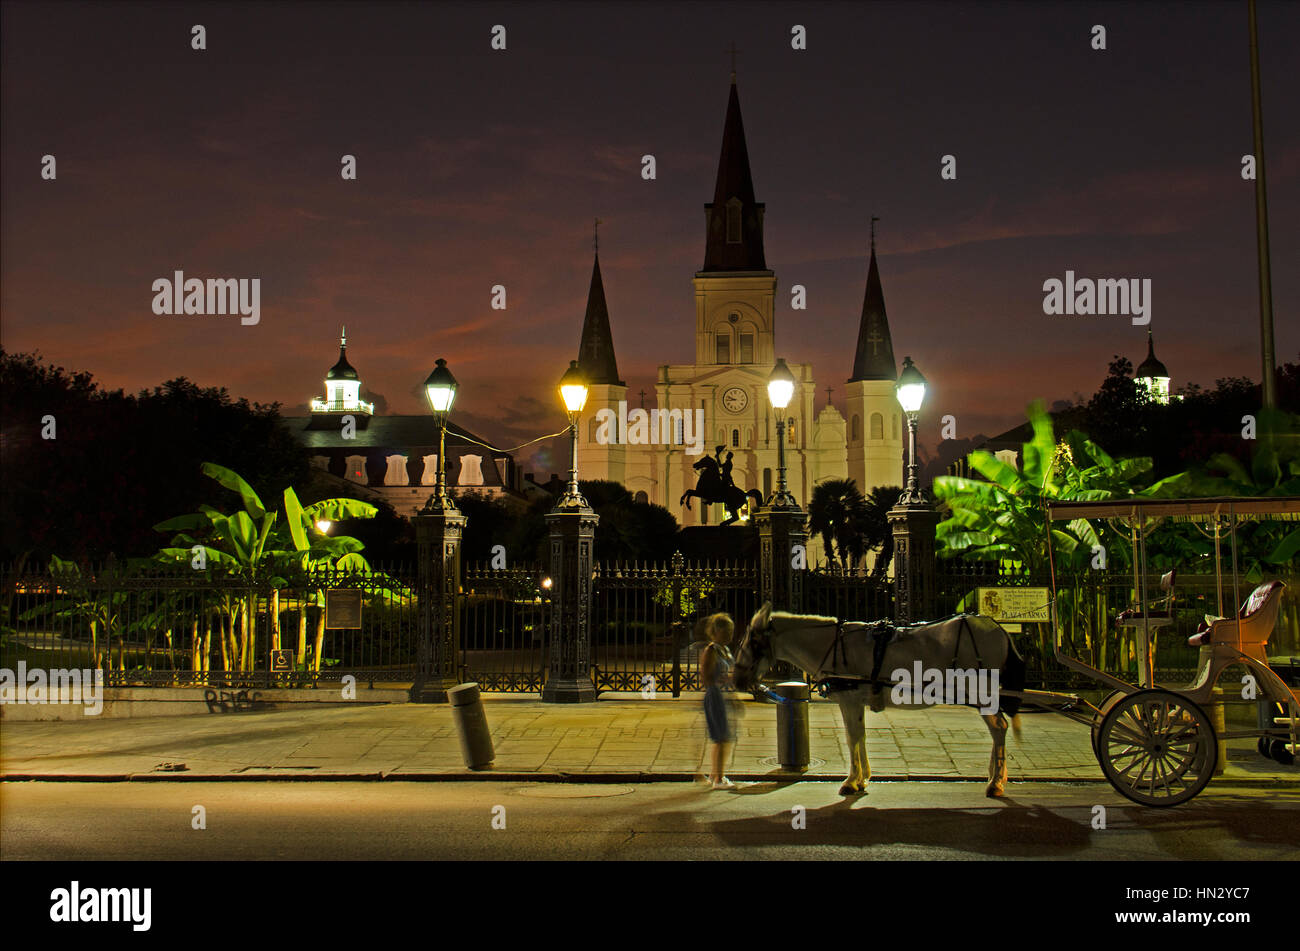
[[[1256,499],[1123,499],[1105,501],[1053,501],[1048,505],[1048,531],[1066,520],[1110,520],[1127,530],[1132,544],[1135,605],[1117,624],[1136,646],[1138,683],[1126,682],[1070,656],[1062,647],[1056,612],[1057,573],[1052,563],[1053,653],[1057,663],[1109,686],[1100,704],[1072,694],[1040,690],[1017,691],[1023,703],[1052,709],[1092,729],[1092,748],[1106,780],[1118,792],[1144,805],[1178,805],[1199,794],[1213,778],[1218,741],[1256,737],[1261,755],[1294,763],[1300,752],[1300,690],[1288,686],[1270,666],[1268,644],[1278,618],[1286,585],[1264,581],[1243,602],[1238,548],[1238,522],[1243,520],[1300,521],[1300,498]],[[1174,621],[1176,572],[1160,582],[1164,596],[1152,598],[1147,574],[1147,535],[1167,521],[1193,521],[1213,533],[1218,616],[1206,616],[1188,638],[1199,648],[1197,670],[1186,685],[1156,682],[1154,634]],[[1236,605],[1223,616],[1225,570],[1221,559],[1223,530],[1231,552],[1231,598]],[[1048,544],[1050,556],[1052,546]],[[1260,703],[1254,730],[1216,730],[1206,715],[1223,672],[1242,665],[1243,699]]]

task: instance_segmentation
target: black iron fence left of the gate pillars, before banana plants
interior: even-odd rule
[[[361,626],[325,628],[325,591],[361,590]],[[4,572],[0,666],[101,669],[109,686],[302,686],[410,679],[410,578],[373,570],[243,577],[108,561]],[[270,651],[289,650],[272,672]]]

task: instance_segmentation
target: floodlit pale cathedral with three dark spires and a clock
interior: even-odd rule
[[[647,442],[637,433],[629,439],[628,387],[619,378],[612,334],[618,314],[611,322],[597,252],[578,347],[590,385],[578,433],[580,478],[620,482],[638,500],[667,508],[682,526],[716,525],[725,518],[720,504],[697,501],[688,511],[679,499],[696,486],[694,464],[722,446],[724,457],[732,453],[736,486],[768,499],[777,481],[777,444],[767,379],[783,357],[797,381],[785,411],[785,465],[800,505],[806,511],[812,488],[827,479],[850,478],[863,495],[902,485],[906,425],[894,395],[898,372],[875,240],[845,412],[829,401],[818,412],[812,366],[776,342],[776,273],[763,253],[763,203],[754,194],[734,73],[714,200],[705,205],[705,262],[693,283],[696,361],[660,366],[655,383],[658,416],[672,420],[668,439]],[[797,338],[788,343],[797,346]],[[612,427],[610,420],[616,421]],[[703,421],[703,453],[699,434],[690,431],[694,420]]]

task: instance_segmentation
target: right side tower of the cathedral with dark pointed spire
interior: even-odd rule
[[[867,495],[876,486],[902,486],[905,424],[894,394],[898,366],[880,288],[876,242],[871,239],[867,291],[862,300],[858,348],[845,398],[849,478]]]

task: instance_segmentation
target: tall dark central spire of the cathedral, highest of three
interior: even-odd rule
[[[702,270],[767,270],[763,256],[763,204],[754,200],[754,179],[749,171],[749,148],[745,146],[745,123],[741,121],[734,71],[727,99],[714,200],[705,205],[705,220]]]

